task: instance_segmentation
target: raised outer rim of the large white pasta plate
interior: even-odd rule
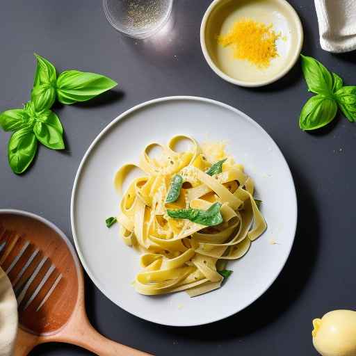
[[[111,300],[111,302],[113,302],[115,305],[117,305],[118,307],[123,309],[125,312],[127,312],[129,314],[132,314],[133,316],[137,316],[140,319],[143,319],[143,320],[146,320],[146,321],[150,321],[152,323],[156,323],[156,324],[159,324],[159,325],[187,327],[187,326],[207,325],[207,324],[214,323],[216,321],[220,321],[220,320],[223,320],[225,318],[228,318],[229,316],[235,315],[238,312],[241,312],[241,310],[245,309],[249,305],[252,305],[253,302],[255,302],[262,295],[264,295],[264,293],[266,293],[266,291],[270,288],[270,286],[275,282],[277,277],[282,272],[282,270],[283,270],[283,268],[284,268],[284,266],[286,264],[286,261],[288,260],[289,255],[291,254],[291,249],[293,248],[293,243],[294,243],[294,240],[296,238],[296,229],[297,229],[297,223],[298,223],[298,200],[297,200],[298,197],[297,197],[296,185],[294,184],[294,179],[293,179],[293,175],[291,173],[291,169],[289,168],[289,165],[288,165],[288,163],[287,163],[287,161],[286,161],[286,159],[284,157],[284,154],[282,153],[280,147],[278,147],[277,143],[275,143],[275,147],[277,148],[277,151],[282,156],[282,159],[283,159],[284,164],[286,166],[286,171],[287,171],[287,173],[289,175],[289,179],[290,179],[292,187],[293,187],[293,197],[294,197],[293,202],[294,202],[294,208],[295,208],[295,211],[296,211],[296,214],[294,216],[293,238],[291,240],[291,245],[289,247],[288,253],[286,254],[286,256],[284,258],[284,261],[280,265],[280,268],[278,269],[277,273],[275,274],[275,276],[270,281],[270,284],[268,284],[266,286],[266,288],[261,291],[261,293],[259,293],[255,298],[250,300],[250,302],[248,302],[243,307],[236,308],[231,313],[228,313],[226,315],[224,314],[224,315],[216,317],[216,318],[211,318],[209,321],[206,321],[206,322],[203,322],[203,323],[202,322],[198,322],[198,323],[194,323],[194,322],[191,322],[191,323],[174,323],[174,322],[165,323],[165,322],[159,321],[159,320],[157,320],[155,318],[151,318],[151,317],[147,317],[147,316],[144,317],[144,316],[141,316],[137,312],[129,311],[129,310],[125,309],[124,307],[122,307],[122,305],[120,305],[120,303],[112,300],[110,298],[111,294],[108,293],[108,291],[106,291],[104,286],[102,286],[102,284],[91,273],[91,270],[86,265],[84,256],[81,253],[81,250],[79,249],[79,242],[78,242],[78,238],[76,236],[76,227],[75,227],[75,218],[74,218],[74,202],[75,202],[75,199],[76,199],[76,192],[78,190],[79,179],[80,179],[80,176],[81,176],[81,172],[82,172],[83,167],[84,167],[84,165],[86,163],[86,160],[88,159],[88,157],[90,156],[90,153],[92,152],[92,149],[94,149],[94,147],[97,145],[99,140],[101,140],[106,135],[106,133],[108,131],[110,131],[111,127],[115,126],[115,124],[118,124],[118,122],[120,122],[120,120],[124,119],[125,117],[127,117],[127,115],[133,113],[134,111],[138,111],[141,108],[144,108],[145,106],[150,106],[152,104],[157,104],[157,103],[161,103],[161,102],[170,102],[170,101],[179,101],[179,100],[187,100],[187,101],[193,101],[193,102],[204,102],[204,103],[213,104],[213,105],[217,105],[217,106],[226,108],[229,111],[232,111],[232,112],[234,112],[234,113],[236,113],[238,115],[241,115],[245,120],[247,120],[248,122],[250,122],[251,124],[256,126],[259,130],[261,130],[263,133],[265,133],[270,138],[270,140],[272,140],[273,143],[275,143],[275,140],[273,140],[273,138],[269,135],[269,133],[263,127],[261,127],[261,125],[259,123],[257,123],[252,118],[250,118],[250,116],[246,115],[242,111],[238,110],[237,108],[234,108],[233,106],[231,106],[229,104],[225,104],[223,102],[219,102],[218,100],[215,100],[215,99],[209,99],[209,98],[206,98],[206,97],[195,97],[195,96],[191,96],[191,95],[177,95],[177,96],[159,97],[159,98],[156,98],[156,99],[148,100],[147,102],[143,102],[143,103],[137,104],[137,105],[132,106],[131,108],[127,109],[126,111],[124,111],[123,113],[118,115],[115,119],[113,119],[111,122],[109,122],[106,125],[106,127],[104,127],[104,129],[102,129],[102,131],[100,131],[97,134],[97,136],[92,141],[92,143],[90,143],[88,149],[86,149],[86,152],[84,153],[83,158],[81,159],[81,163],[79,164],[79,168],[76,171],[76,175],[75,175],[75,178],[74,178],[74,184],[73,184],[73,188],[72,188],[72,195],[71,195],[71,199],[70,199],[70,223],[71,223],[71,228],[72,228],[72,236],[73,236],[74,245],[75,245],[75,248],[76,248],[76,252],[77,252],[77,254],[79,256],[79,259],[81,261],[81,264],[82,264],[83,268],[86,270],[86,273],[88,273],[88,276],[90,277],[90,280],[95,284],[95,286],[97,286],[97,289],[99,289],[99,291],[101,291],[104,294],[104,296],[106,296],[106,298]]]

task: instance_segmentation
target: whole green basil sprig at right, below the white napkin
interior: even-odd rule
[[[356,87],[343,86],[335,73],[329,72],[318,60],[303,56],[302,71],[308,90],[316,93],[302,107],[299,117],[300,129],[314,130],[334,120],[339,106],[350,122],[356,120]]]

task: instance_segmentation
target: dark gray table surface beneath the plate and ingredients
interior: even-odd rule
[[[209,3],[175,1],[172,31],[160,40],[139,42],[122,38],[111,28],[99,0],[2,1],[0,111],[29,99],[34,51],[59,71],[75,68],[106,74],[120,87],[92,102],[57,105],[67,149],[40,147],[38,159],[23,176],[10,171],[9,136],[0,131],[0,207],[38,213],[72,238],[70,195],[76,169],[92,140],[113,118],[138,103],[168,95],[196,95],[230,104],[270,133],[296,182],[298,232],[280,277],[243,312],[211,325],[181,328],[131,316],[86,277],[88,316],[107,337],[156,355],[316,355],[312,318],[332,309],[355,308],[356,126],[339,116],[318,133],[300,131],[298,115],[309,95],[299,65],[264,88],[239,88],[218,78],[200,50],[200,21]],[[348,85],[355,84],[355,53],[334,55],[320,47],[314,1],[291,4],[304,26],[304,53],[319,58]],[[52,343],[35,348],[31,355],[90,353]]]

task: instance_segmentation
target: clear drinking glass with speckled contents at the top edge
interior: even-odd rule
[[[133,38],[147,38],[161,29],[172,12],[173,0],[102,0],[114,29]]]

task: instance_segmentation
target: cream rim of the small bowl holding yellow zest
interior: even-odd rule
[[[220,70],[220,68],[211,59],[211,56],[209,55],[209,51],[207,49],[207,44],[205,42],[205,30],[207,29],[207,22],[208,22],[209,16],[210,16],[211,12],[213,11],[213,9],[216,8],[218,3],[220,3],[221,1],[224,1],[224,0],[214,0],[209,5],[209,8],[207,8],[207,11],[205,12],[204,17],[202,19],[202,24],[200,25],[200,45],[202,47],[202,52],[204,54],[204,58],[205,58],[205,60],[207,60],[209,67],[211,67],[211,69],[214,72],[216,72],[216,74],[218,74],[218,76],[220,76],[220,78],[224,79],[225,81],[228,81],[229,83],[235,84],[237,86],[245,86],[245,87],[250,87],[250,88],[266,86],[266,85],[273,83],[273,82],[277,81],[278,79],[282,78],[282,76],[284,76],[287,72],[289,72],[289,70],[291,70],[293,65],[296,64],[296,61],[299,58],[300,51],[302,51],[302,44],[303,44],[303,38],[304,38],[302,23],[300,22],[300,18],[298,16],[298,14],[296,13],[296,10],[294,10],[293,6],[291,6],[291,4],[286,0],[274,0],[274,1],[281,3],[282,6],[288,8],[288,10],[291,12],[291,14],[293,14],[293,17],[296,21],[296,25],[298,28],[298,47],[296,49],[294,56],[289,61],[289,64],[286,67],[284,67],[284,70],[282,70],[281,72],[278,72],[275,76],[273,76],[270,79],[266,79],[264,81],[241,81],[241,80],[232,78],[232,76],[229,76],[229,75],[225,74],[222,70]],[[254,1],[254,0],[251,0],[251,1]]]

